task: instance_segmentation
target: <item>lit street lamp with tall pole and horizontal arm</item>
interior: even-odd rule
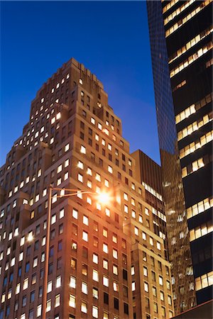
[[[42,319],[46,319],[47,295],[48,295],[48,265],[49,265],[49,248],[50,248],[50,218],[52,206],[53,191],[70,191],[69,194],[57,195],[56,198],[76,196],[78,194],[93,194],[96,195],[97,201],[106,205],[111,200],[109,194],[105,192],[94,193],[92,191],[83,191],[81,189],[60,189],[53,187],[51,184],[48,188],[48,216],[46,227],[46,245],[45,245],[45,267],[44,267],[44,283],[43,283],[43,300],[42,300]]]

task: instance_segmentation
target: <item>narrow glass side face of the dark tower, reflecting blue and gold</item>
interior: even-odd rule
[[[172,264],[175,312],[195,304],[194,278],[183,194],[168,53],[160,1],[147,1],[151,57],[158,121],[163,196]]]

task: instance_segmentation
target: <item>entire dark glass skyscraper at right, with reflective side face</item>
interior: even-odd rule
[[[147,9],[178,313],[212,298],[212,1]]]

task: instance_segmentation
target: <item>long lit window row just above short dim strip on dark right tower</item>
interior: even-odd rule
[[[197,50],[197,52],[195,52],[193,55],[190,55],[189,57],[187,57],[186,60],[184,60],[183,62],[181,62],[178,67],[175,67],[175,69],[172,69],[170,71],[170,77],[174,77],[176,74],[178,74],[179,72],[182,71],[182,69],[185,69],[186,67],[188,67],[189,65],[192,64],[192,62],[195,62],[197,59],[199,59],[200,57],[202,57],[202,55],[204,55],[205,53],[207,53],[209,50],[212,50],[213,47],[213,43],[212,41],[210,41],[209,43],[207,43],[207,45],[204,45],[204,47],[201,47],[199,50]]]

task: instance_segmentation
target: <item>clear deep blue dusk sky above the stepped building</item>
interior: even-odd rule
[[[160,162],[146,1],[1,1],[0,166],[36,91],[75,57],[96,74],[133,152]]]

